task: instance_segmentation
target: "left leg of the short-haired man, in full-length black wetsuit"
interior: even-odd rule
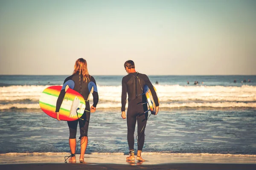
[[[127,109],[127,141],[130,149],[130,156],[126,158],[126,160],[134,160],[134,131],[136,126],[136,115],[132,109],[132,107],[128,107]]]

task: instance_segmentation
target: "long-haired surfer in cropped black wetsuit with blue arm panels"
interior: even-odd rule
[[[75,121],[67,121],[67,125],[69,127],[70,136],[69,136],[69,144],[71,150],[71,158],[69,159],[70,163],[76,163],[76,130],[79,122],[80,129],[80,137],[81,139],[81,154],[79,161],[81,164],[86,164],[84,161],[84,153],[88,143],[88,127],[90,121],[90,113],[96,111],[96,105],[99,101],[99,95],[97,91],[96,81],[90,76],[87,70],[87,62],[83,58],[79,58],[76,60],[73,74],[67,77],[63,83],[61,93],[58,96],[57,104],[56,104],[56,117],[59,119],[59,109],[61,107],[61,103],[64,99],[65,93],[68,88],[71,88],[77,92],[79,92],[85,100],[85,110],[84,114]],[[93,94],[93,105],[90,107],[89,97],[90,92]]]

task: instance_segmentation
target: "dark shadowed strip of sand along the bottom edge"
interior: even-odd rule
[[[255,170],[256,164],[4,164],[1,170]]]

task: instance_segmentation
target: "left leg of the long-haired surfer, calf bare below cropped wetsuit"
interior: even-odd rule
[[[69,144],[71,154],[76,153],[76,129],[77,129],[78,120],[67,121],[67,125],[70,130]],[[76,156],[71,156],[69,162],[76,162]]]

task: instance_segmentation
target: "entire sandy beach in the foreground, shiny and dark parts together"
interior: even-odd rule
[[[88,170],[130,170],[130,169],[159,169],[159,170],[255,170],[256,156],[250,155],[221,155],[221,154],[150,154],[145,153],[143,158],[147,161],[125,161],[124,154],[86,154],[84,160],[87,164],[65,164],[64,156],[67,154],[1,154],[0,169],[2,170],[53,170],[53,169],[88,169]]]

